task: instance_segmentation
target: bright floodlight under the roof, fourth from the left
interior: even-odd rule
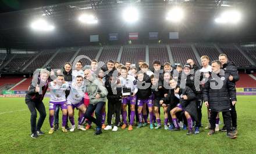
[[[173,8],[166,15],[166,20],[179,23],[184,18],[184,11],[180,8]]]

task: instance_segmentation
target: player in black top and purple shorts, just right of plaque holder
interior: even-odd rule
[[[138,92],[137,92],[137,105],[138,105],[138,118],[140,120],[137,128],[143,127],[143,117],[142,117],[142,109],[143,105],[147,104],[148,111],[150,112],[150,129],[154,129],[153,126],[153,97],[152,97],[152,91],[151,91],[151,80],[150,76],[146,74],[146,72],[139,71],[138,72],[138,79],[137,79],[137,86]],[[145,121],[145,125],[147,125],[147,121]]]

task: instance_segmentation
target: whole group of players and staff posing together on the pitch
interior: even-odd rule
[[[201,68],[188,59],[185,65],[161,65],[161,61],[155,60],[154,70],[142,60],[138,68],[129,61],[123,65],[109,60],[106,67],[101,67],[97,60],[92,60],[85,66],[76,61],[74,66],[65,63],[55,71],[40,69],[34,73],[25,100],[31,112],[31,137],[44,134],[41,127],[47,114],[42,100],[49,89],[49,134],[59,130],[59,108],[63,133],[76,128],[86,131],[94,123],[95,135],[102,130],[131,131],[148,126],[170,131],[183,129],[187,135],[200,134],[201,108],[205,104],[208,135],[223,131],[227,137],[236,138],[237,68],[226,54],[220,54],[219,60],[211,64],[209,61],[208,56],[202,56]],[[221,129],[219,112],[224,123]],[[74,114],[79,117],[77,127]]]

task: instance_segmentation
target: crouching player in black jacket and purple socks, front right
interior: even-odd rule
[[[177,82],[172,79],[170,80],[170,87],[172,89],[177,88]],[[173,97],[173,94],[172,96]],[[189,131],[187,132],[187,135],[193,134],[193,119],[196,121],[198,120],[197,118],[197,104],[195,103],[195,94],[193,90],[190,89],[190,87],[186,86],[184,89],[180,89],[177,94],[175,94],[175,97],[180,97],[180,103],[176,105],[175,108],[173,108],[170,111],[170,115],[172,116],[172,121],[175,126],[175,131],[180,130],[179,124],[177,122],[177,112],[184,112],[186,119],[187,119],[187,124],[189,126]]]

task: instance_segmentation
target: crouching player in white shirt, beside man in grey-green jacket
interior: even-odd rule
[[[73,82],[70,86],[70,94],[67,96],[67,112],[69,114],[69,120],[72,124],[70,131],[74,131],[76,126],[74,125],[74,108],[79,109],[83,113],[81,117],[84,117],[86,113],[86,107],[84,106],[84,85],[83,85],[83,76],[76,76],[76,82]],[[83,119],[79,119],[77,129],[86,130],[82,126],[81,122]]]

